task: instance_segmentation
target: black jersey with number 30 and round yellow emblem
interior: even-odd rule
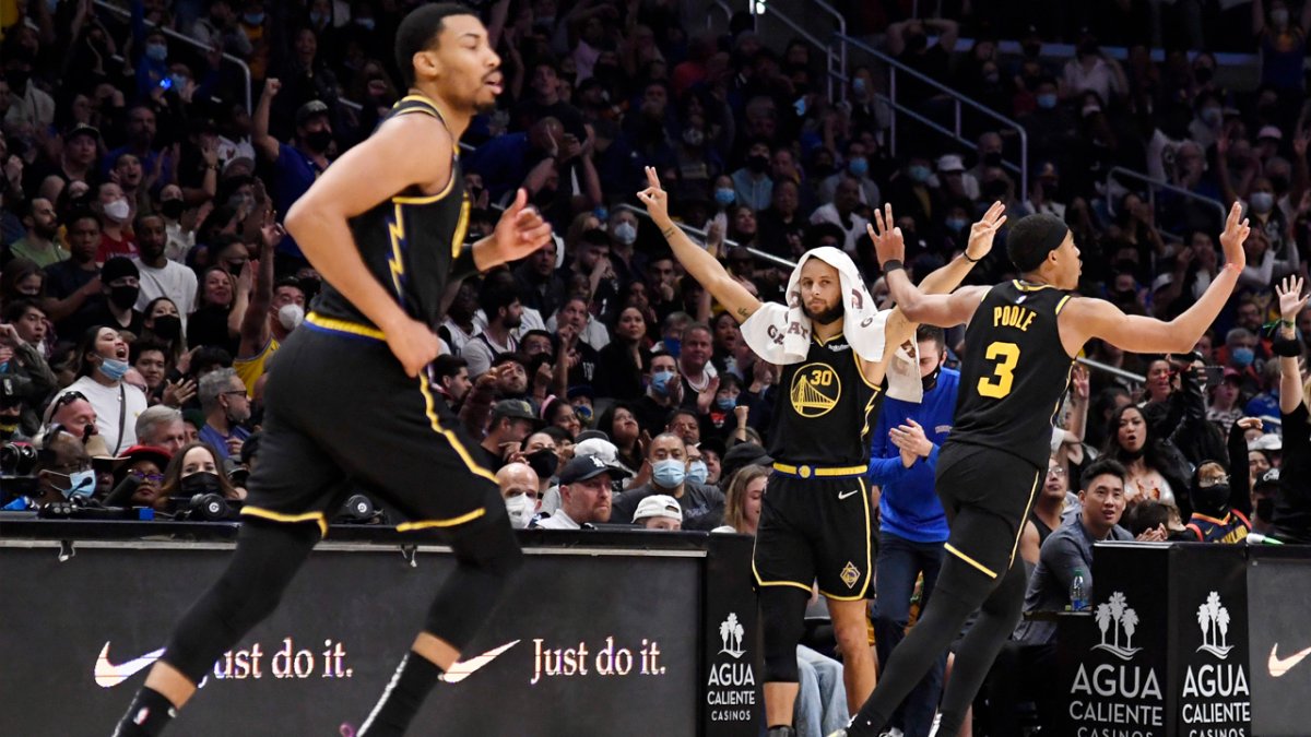
[[[812,338],[806,359],[783,367],[770,455],[792,466],[868,463],[868,434],[882,396],[865,380],[844,336],[827,342]]]

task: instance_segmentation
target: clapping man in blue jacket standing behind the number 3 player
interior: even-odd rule
[[[924,576],[920,610],[933,591],[948,531],[947,514],[933,492],[933,475],[937,448],[952,430],[961,375],[943,367],[947,338],[941,328],[920,325],[915,340],[924,400],[914,404],[885,399],[869,454],[869,483],[882,488],[874,578],[878,582],[874,639],[880,669],[906,635],[915,578]],[[893,717],[905,737],[928,736],[943,690],[943,667],[944,661],[939,661]]]

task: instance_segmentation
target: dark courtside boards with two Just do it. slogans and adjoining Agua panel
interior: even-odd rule
[[[231,553],[166,543],[77,551],[60,563],[58,546],[0,547],[0,734],[108,734]],[[763,706],[742,551],[721,553],[725,591],[707,595],[713,611],[701,608],[714,590],[704,551],[527,552],[414,734],[754,733]],[[416,563],[396,548],[316,551],[278,611],[223,654],[173,732],[351,737],[454,568],[448,553],[426,548]],[[709,678],[722,686],[714,700]]]

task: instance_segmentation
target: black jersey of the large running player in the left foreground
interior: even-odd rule
[[[410,94],[397,102],[388,119],[396,115],[425,114],[440,119],[433,101]],[[459,147],[446,151],[416,151],[416,156],[451,156],[451,182],[438,194],[417,190],[399,191],[387,202],[350,219],[350,232],[364,266],[401,308],[413,319],[435,330],[442,324],[442,303],[451,264],[464,244],[469,223],[469,202],[460,173]],[[324,317],[370,324],[332,285],[324,283],[315,312]]]

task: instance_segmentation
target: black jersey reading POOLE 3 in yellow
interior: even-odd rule
[[[1063,290],[1019,281],[987,291],[965,329],[948,442],[996,447],[1047,467],[1051,420],[1074,363],[1057,327],[1068,300]]]

